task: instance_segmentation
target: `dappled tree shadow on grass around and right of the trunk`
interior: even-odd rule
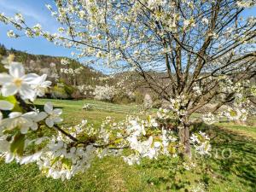
[[[181,165],[182,160],[177,158],[146,161],[142,168],[163,171],[162,175],[148,177],[147,182],[164,184],[166,189],[171,189],[171,191],[180,189],[186,191],[189,185],[198,182],[207,186],[211,183],[213,189],[214,185],[225,186],[234,183],[234,186],[229,187],[235,191],[238,191],[236,188],[240,187],[242,191],[253,192],[256,189],[256,140],[236,135],[234,132],[214,125],[201,124],[195,127],[193,132],[206,131],[212,138],[212,156],[197,160],[195,171],[185,171]],[[175,172],[177,160],[180,167]],[[168,173],[165,173],[166,171]]]

